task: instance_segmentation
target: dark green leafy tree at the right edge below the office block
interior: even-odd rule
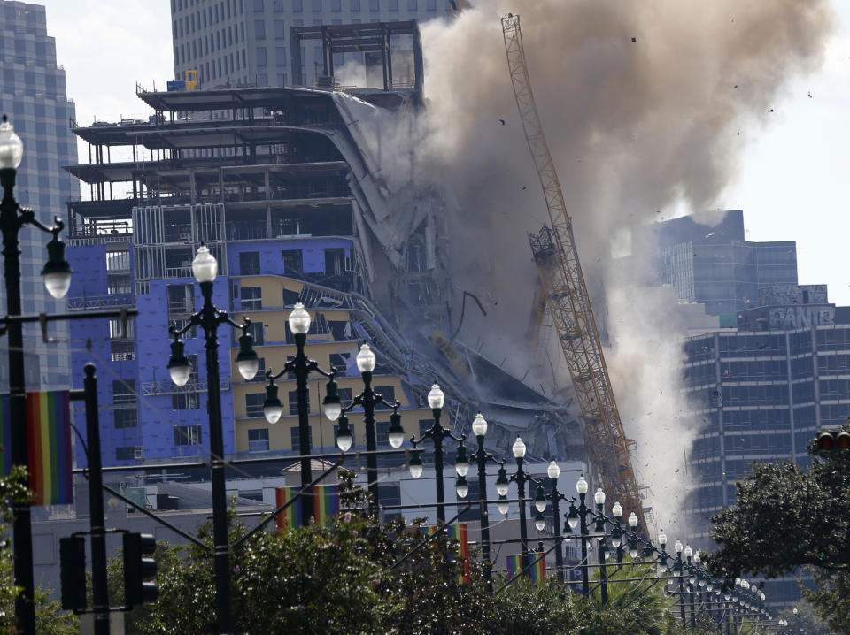
[[[705,562],[727,584],[742,574],[778,578],[809,570],[818,589],[804,596],[834,631],[850,633],[850,449],[818,455],[813,442],[808,452],[808,470],[753,463],[753,475],[736,484],[735,507],[712,517],[711,535],[721,547]]]

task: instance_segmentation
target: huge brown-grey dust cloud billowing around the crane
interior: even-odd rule
[[[523,339],[537,279],[527,233],[548,218],[506,65],[499,17],[513,11],[522,18],[537,109],[585,276],[606,289],[595,298],[596,313],[607,317],[600,328],[610,338],[607,362],[623,425],[638,441],[634,463],[658,494],[648,501],[656,517],[671,516],[676,502],[661,500],[661,486],[679,482],[674,463],[692,436],[676,418],[685,409],[682,355],[663,305],[612,272],[611,238],[676,203],[715,208],[737,169],[737,131],[767,126],[785,82],[821,63],[831,33],[828,3],[476,4],[422,29],[428,108],[419,161],[440,171],[454,197],[456,291],[475,293],[488,309],[486,318],[468,314],[460,338],[485,338],[491,356],[507,355],[519,376],[537,365]],[[566,374],[560,381],[569,383]]]

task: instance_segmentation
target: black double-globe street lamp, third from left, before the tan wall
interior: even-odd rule
[[[284,374],[292,373],[295,375],[296,398],[298,403],[298,454],[301,462],[301,487],[304,488],[313,482],[313,468],[311,465],[310,453],[313,443],[310,439],[310,391],[307,387],[307,379],[310,373],[315,371],[320,375],[328,378],[325,397],[322,400],[322,410],[325,417],[331,421],[336,421],[339,418],[339,413],[342,405],[339,402],[337,394],[336,369],[331,371],[323,371],[319,367],[319,363],[310,359],[304,352],[307,341],[307,333],[310,332],[312,319],[310,314],[304,308],[304,304],[296,302],[295,306],[290,311],[290,316],[287,318],[290,325],[290,331],[295,339],[296,353],[295,357],[283,364],[283,368],[277,374],[274,374],[271,368],[266,371],[266,400],[263,402],[263,417],[266,421],[274,425],[281,420],[283,414],[283,405],[278,396],[278,387],[274,381],[280,379]],[[304,511],[304,518],[311,518],[313,513],[313,496],[305,495],[301,499],[301,509]]]

